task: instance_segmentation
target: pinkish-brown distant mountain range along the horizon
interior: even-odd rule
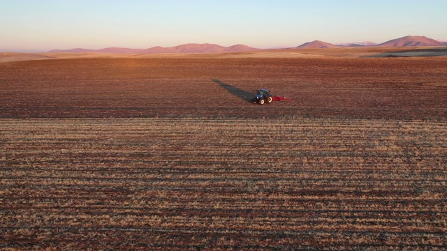
[[[331,48],[331,47],[407,47],[407,46],[447,46],[447,42],[434,40],[432,38],[427,38],[425,36],[404,36],[402,38],[396,38],[389,40],[385,43],[376,44],[372,42],[356,42],[356,43],[344,43],[339,45],[334,45],[331,43],[326,43],[320,40],[314,40],[312,42],[304,43],[299,45],[298,49],[306,48]],[[249,47],[247,45],[233,45],[229,47],[223,47],[221,45],[214,44],[197,44],[189,43],[186,45],[177,45],[174,47],[151,47],[149,49],[131,49],[131,48],[120,48],[120,47],[108,47],[101,50],[90,50],[75,48],[71,50],[50,50],[50,53],[57,52],[68,52],[68,53],[87,53],[87,52],[102,52],[102,53],[115,53],[115,54],[161,54],[161,53],[213,53],[213,52],[250,52],[261,49],[256,49],[254,47]]]

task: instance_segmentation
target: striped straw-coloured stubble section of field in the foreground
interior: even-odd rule
[[[0,248],[447,248],[441,121],[3,119],[0,134]]]

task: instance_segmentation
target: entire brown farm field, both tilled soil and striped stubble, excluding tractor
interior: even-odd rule
[[[446,70],[1,63],[0,249],[446,250]]]

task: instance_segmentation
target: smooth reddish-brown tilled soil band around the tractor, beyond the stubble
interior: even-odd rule
[[[1,118],[446,119],[447,58],[59,59],[0,64]],[[268,88],[293,102],[252,105]]]

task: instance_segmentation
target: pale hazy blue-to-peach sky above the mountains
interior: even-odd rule
[[[0,51],[447,40],[447,0],[0,0]]]

